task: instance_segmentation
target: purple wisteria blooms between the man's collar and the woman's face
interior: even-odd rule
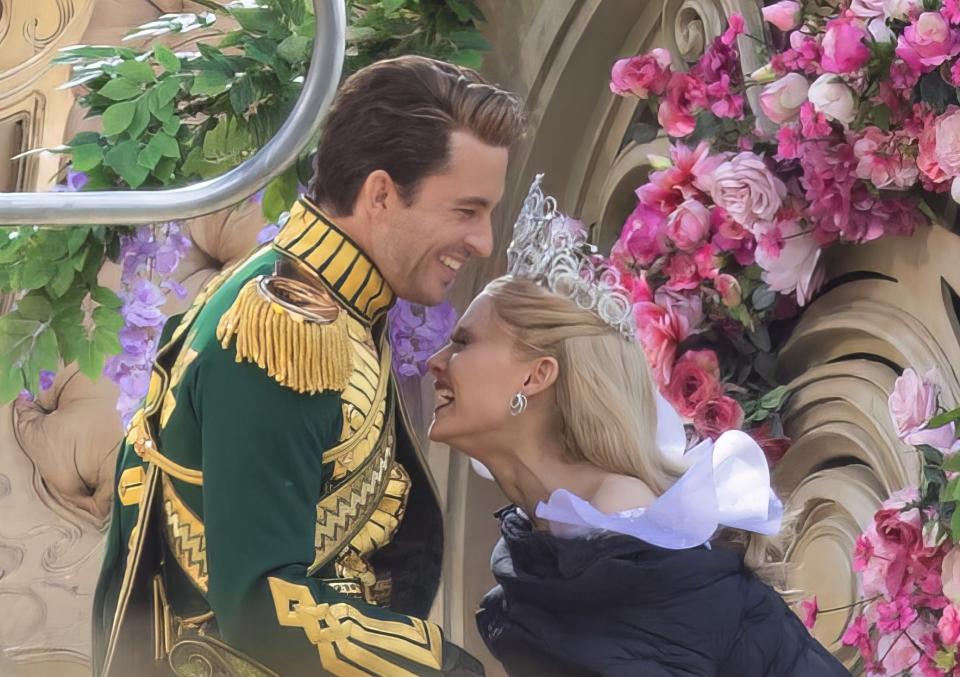
[[[427,360],[450,339],[457,311],[448,302],[421,306],[399,300],[390,310],[390,344],[397,373],[425,376]]]

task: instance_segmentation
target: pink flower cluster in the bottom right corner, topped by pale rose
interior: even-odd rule
[[[953,424],[926,430],[937,409],[934,376],[905,370],[890,396],[890,415],[904,441],[949,454]],[[960,548],[942,522],[946,492],[926,493],[916,487],[894,493],[857,538],[853,568],[864,602],[842,641],[857,648],[872,675],[960,675]]]

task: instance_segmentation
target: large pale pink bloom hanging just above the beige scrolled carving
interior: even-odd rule
[[[774,247],[758,247],[754,252],[757,265],[763,269],[763,281],[781,294],[795,293],[797,303],[805,305],[823,283],[820,267],[820,246],[811,232],[804,232],[798,221],[778,224],[782,243],[779,254]]]

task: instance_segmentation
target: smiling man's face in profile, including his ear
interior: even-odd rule
[[[455,131],[447,171],[424,178],[410,205],[390,196],[374,224],[370,254],[397,296],[436,305],[471,256],[490,255],[490,213],[506,173],[506,148]]]

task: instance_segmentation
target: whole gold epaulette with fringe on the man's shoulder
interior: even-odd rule
[[[298,393],[343,390],[353,371],[347,313],[333,296],[298,280],[247,282],[217,325],[224,348],[236,336],[237,362],[254,362]]]

